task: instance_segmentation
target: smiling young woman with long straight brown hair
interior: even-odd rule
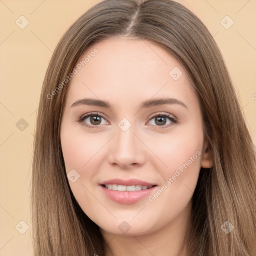
[[[256,254],[253,143],[216,43],[179,3],[81,16],[50,61],[34,148],[35,255]]]

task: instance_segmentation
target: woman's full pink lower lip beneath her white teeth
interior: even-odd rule
[[[149,189],[139,190],[139,191],[116,191],[107,189],[104,186],[100,185],[103,189],[103,192],[111,200],[122,203],[122,204],[132,204],[138,202],[145,197],[149,196],[157,186],[151,187]]]

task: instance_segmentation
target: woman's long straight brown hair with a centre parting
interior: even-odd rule
[[[35,255],[104,255],[99,227],[81,210],[68,184],[59,136],[68,84],[56,88],[89,45],[120,35],[150,40],[175,56],[200,101],[214,166],[201,169],[193,195],[192,224],[186,237],[189,255],[255,256],[253,143],[215,41],[193,13],[171,0],[102,1],[58,43],[42,87],[34,141]],[[226,221],[234,226],[228,234],[221,229]]]

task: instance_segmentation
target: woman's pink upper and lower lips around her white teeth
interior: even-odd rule
[[[144,189],[140,191],[115,191],[105,188],[103,185],[109,184],[116,184],[116,185],[142,185],[142,186],[153,186],[154,184],[138,180],[138,179],[129,179],[129,180],[122,180],[122,179],[111,179],[104,181],[100,184],[102,191],[105,195],[110,198],[111,200],[121,203],[121,204],[132,204],[142,200],[145,197],[148,197],[157,186],[151,187],[149,189]]]

